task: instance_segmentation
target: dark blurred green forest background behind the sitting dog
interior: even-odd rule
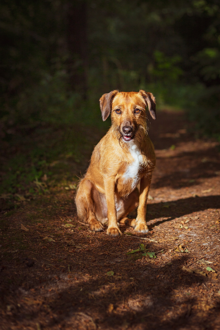
[[[107,127],[98,101],[115,88],[150,91],[220,139],[218,0],[2,0],[0,34],[0,135],[19,145],[3,191],[49,173],[61,150],[79,162],[76,126]]]

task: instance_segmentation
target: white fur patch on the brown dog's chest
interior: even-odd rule
[[[139,170],[141,168],[143,160],[142,160],[141,152],[135,144],[130,147],[130,152],[132,157],[134,158],[134,161],[127,167],[123,175],[123,178],[126,181],[128,179],[133,179],[132,189],[134,189],[140,180]]]

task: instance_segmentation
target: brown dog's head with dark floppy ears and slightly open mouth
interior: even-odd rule
[[[124,142],[135,138],[141,139],[146,134],[146,112],[156,119],[156,102],[152,93],[144,90],[139,92],[119,92],[113,90],[103,94],[100,99],[102,119],[106,120],[111,114],[112,126],[120,134]]]

